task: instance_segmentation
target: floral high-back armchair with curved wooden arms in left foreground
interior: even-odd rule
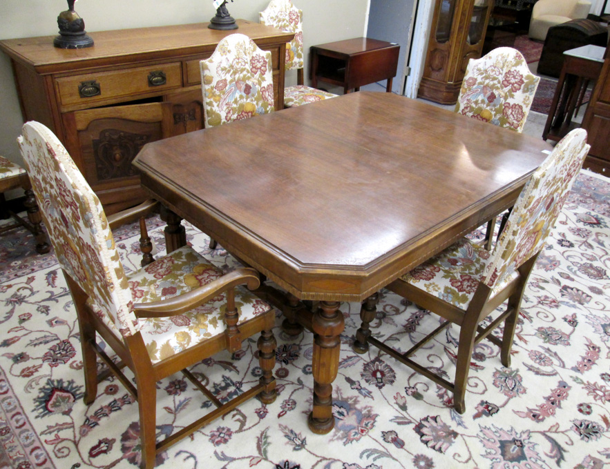
[[[147,239],[142,214],[155,203],[144,202],[140,208],[107,219],[95,192],[48,128],[37,122],[24,124],[19,146],[74,299],[84,363],[84,400],[87,404],[95,400],[98,381],[108,375],[97,375],[97,355],[137,399],[142,467],[152,468],[159,452],[250,397],[258,395],[263,403],[273,402],[274,310],[242,288],[258,286],[256,271],[241,268],[222,275],[185,246],[154,261],[148,259],[143,268],[128,274],[111,228],[140,219],[142,238]],[[263,376],[254,388],[230,401],[221,402],[187,370],[220,350],[240,350],[242,340],[261,331],[258,353]],[[114,363],[98,346],[96,333],[120,363]],[[135,375],[137,387],[122,373],[124,366]],[[156,383],[178,371],[218,408],[156,443]]]

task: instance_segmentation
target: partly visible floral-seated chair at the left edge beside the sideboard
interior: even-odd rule
[[[34,235],[36,241],[36,252],[39,254],[45,254],[46,252],[49,252],[51,247],[41,226],[42,219],[40,217],[38,204],[36,203],[36,199],[34,197],[34,192],[32,192],[28,172],[21,168],[21,166],[19,166],[17,163],[12,163],[12,161],[6,159],[5,157],[0,157],[0,206],[4,206],[6,204],[4,192],[17,188],[21,188],[26,192],[26,200],[24,201],[23,205],[26,206],[28,220],[24,220],[19,216],[19,214],[13,212],[12,210],[1,207],[3,217],[5,214],[6,218],[12,217],[12,219],[15,220],[15,223],[11,223],[10,225],[0,228],[0,233],[17,228],[17,226],[23,226],[23,228],[26,228]]]

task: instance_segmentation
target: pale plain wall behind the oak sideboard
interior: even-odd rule
[[[235,0],[228,9],[233,18],[258,21],[269,0]],[[305,77],[309,46],[364,35],[368,0],[296,0],[303,10]],[[57,14],[67,10],[65,0],[0,0],[0,39],[57,35]],[[88,32],[146,26],[200,23],[216,14],[212,0],[80,0],[75,10]],[[52,41],[53,38],[50,38]],[[289,73],[287,84],[296,84]],[[0,52],[0,154],[21,163],[16,139],[23,118],[17,100],[10,60]]]

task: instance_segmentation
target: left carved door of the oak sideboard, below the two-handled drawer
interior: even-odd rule
[[[87,109],[63,119],[66,149],[107,214],[146,199],[131,161],[146,143],[171,137],[171,103]]]

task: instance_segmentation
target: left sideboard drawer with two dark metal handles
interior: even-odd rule
[[[112,101],[182,86],[180,62],[56,79],[61,106]]]

